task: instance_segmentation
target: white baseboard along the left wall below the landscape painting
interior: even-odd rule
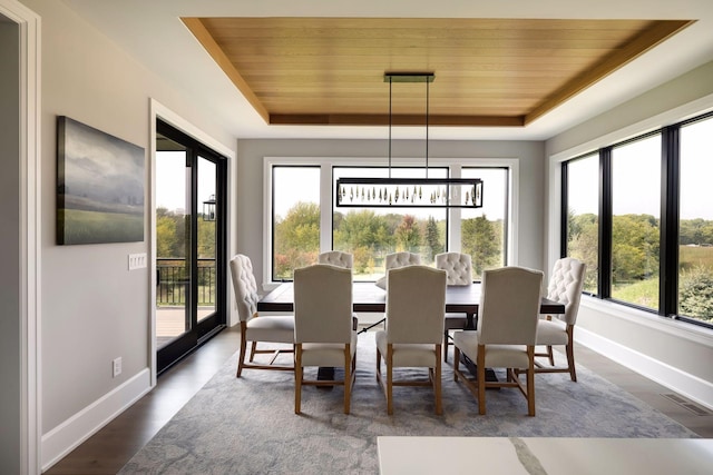
[[[150,387],[148,368],[42,435],[42,472],[140,399]]]

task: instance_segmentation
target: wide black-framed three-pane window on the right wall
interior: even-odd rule
[[[561,165],[564,254],[597,263],[587,291],[713,328],[711,149],[707,113]]]

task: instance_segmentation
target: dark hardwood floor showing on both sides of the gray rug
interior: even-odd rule
[[[46,472],[48,475],[116,474],[223,366],[240,346],[226,329],[158,378],[154,390]],[[664,394],[672,392],[582,346],[576,360],[702,437],[713,437],[713,412],[696,415]]]

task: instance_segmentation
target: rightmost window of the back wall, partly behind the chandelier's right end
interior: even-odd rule
[[[461,251],[472,258],[472,277],[480,280],[482,270],[507,263],[508,180],[507,168],[463,168],[462,178],[481,178],[487,199],[482,208],[462,208]]]

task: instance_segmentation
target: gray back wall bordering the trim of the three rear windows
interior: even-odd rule
[[[393,158],[423,157],[422,140],[393,144]],[[237,147],[237,251],[253,260],[255,278],[263,281],[263,157],[385,157],[385,140],[238,140]],[[519,159],[518,264],[543,268],[545,219],[544,144],[534,141],[430,141],[429,159]],[[384,158],[384,165],[387,164]],[[485,194],[487,199],[487,184]]]

